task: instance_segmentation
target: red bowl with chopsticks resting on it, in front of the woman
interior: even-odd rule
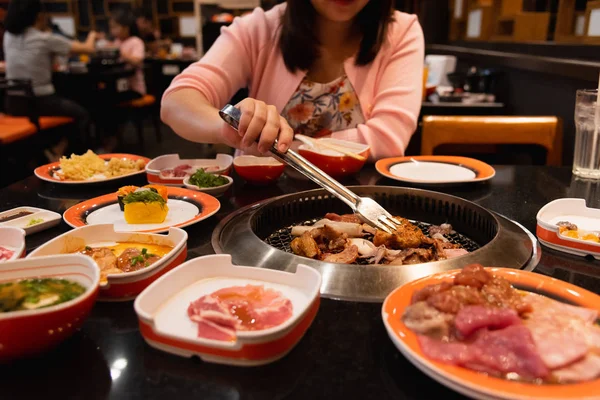
[[[298,152],[301,156],[334,178],[343,178],[345,176],[356,174],[362,169],[367,162],[367,158],[369,157],[370,147],[366,144],[330,138],[318,139],[317,143],[318,142],[326,142],[338,147],[342,147],[365,158],[364,160],[358,160],[334,150],[329,150],[327,148],[315,149],[305,144],[298,148]]]

